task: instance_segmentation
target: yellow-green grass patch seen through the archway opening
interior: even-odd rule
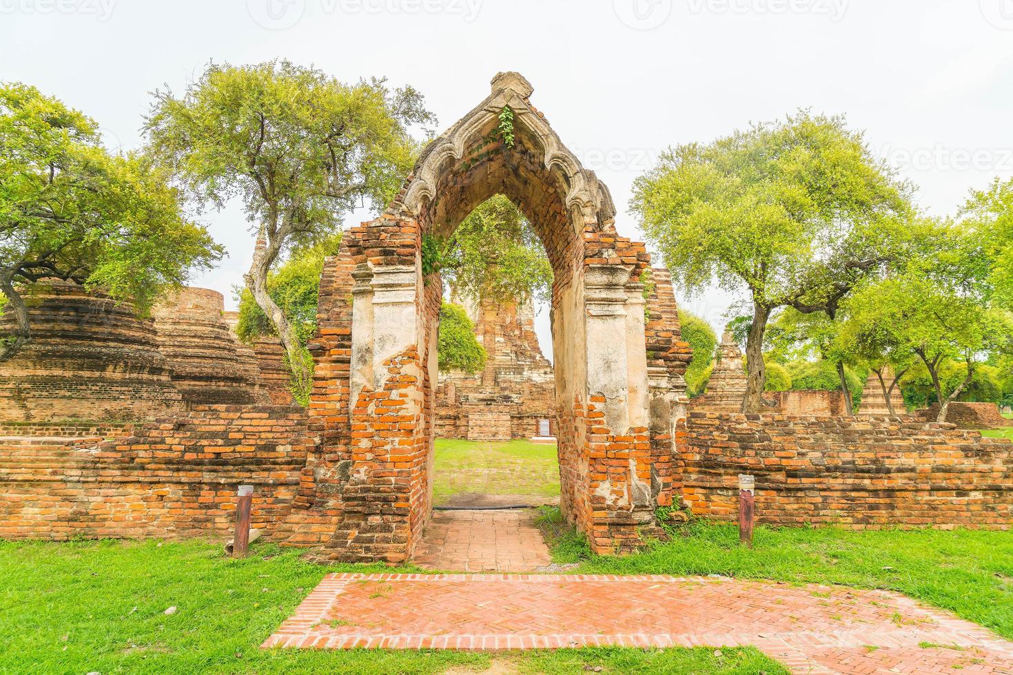
[[[438,438],[433,499],[445,504],[456,494],[559,496],[555,444],[528,440],[483,442]]]

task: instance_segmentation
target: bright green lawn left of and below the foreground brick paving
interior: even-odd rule
[[[480,672],[493,662],[500,673],[787,673],[754,649],[260,651],[324,574],[390,571],[299,556],[271,544],[233,561],[201,541],[0,541],[0,673],[388,675]]]

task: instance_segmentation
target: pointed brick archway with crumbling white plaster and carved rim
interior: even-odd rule
[[[678,320],[655,292],[645,325],[649,256],[616,235],[608,189],[531,93],[521,75],[497,75],[489,97],[430,144],[384,214],[346,233],[325,266],[311,345],[310,414],[322,443],[297,507],[336,517],[335,558],[404,560],[428,520],[442,284],[423,275],[423,242],[451,234],[496,193],[532,223],[555,275],[563,514],[596,551],[621,552],[672,502],[672,430],[688,359]],[[513,145],[499,130],[505,108]],[[315,522],[326,527],[328,516]]]

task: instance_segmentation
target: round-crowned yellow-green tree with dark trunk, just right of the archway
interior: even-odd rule
[[[831,318],[892,255],[911,188],[840,116],[799,111],[708,145],[678,146],[638,178],[631,206],[687,292],[712,281],[752,305],[744,410],[760,409],[764,335],[791,307]]]

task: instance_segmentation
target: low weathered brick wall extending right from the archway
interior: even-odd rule
[[[677,446],[702,517],[735,518],[737,476],[752,474],[763,523],[1013,525],[1013,443],[951,424],[692,412]]]

